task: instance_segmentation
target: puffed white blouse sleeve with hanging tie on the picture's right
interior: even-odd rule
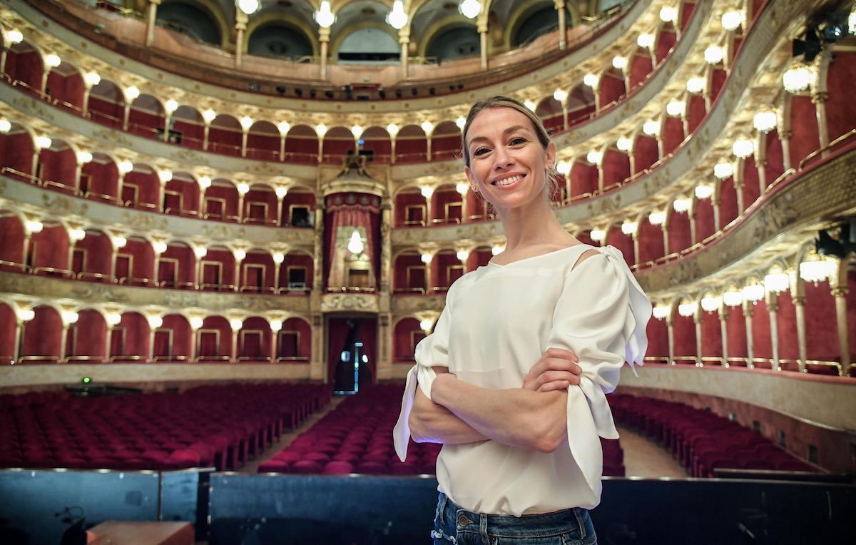
[[[618,438],[605,394],[615,390],[625,361],[642,364],[651,318],[651,302],[621,252],[598,250],[566,276],[547,341],[580,358],[580,384],[568,387],[568,445],[596,493],[603,471],[598,435]]]

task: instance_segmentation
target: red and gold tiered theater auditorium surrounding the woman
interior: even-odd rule
[[[461,130],[506,95],[653,305],[597,542],[856,542],[851,0],[0,0],[0,44],[0,541],[430,543],[392,432],[504,250]]]

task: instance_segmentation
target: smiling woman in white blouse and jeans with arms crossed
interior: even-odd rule
[[[435,543],[595,543],[598,435],[618,437],[604,394],[625,361],[642,363],[651,303],[621,252],[556,220],[556,145],[523,104],[473,105],[463,157],[506,249],[449,288],[416,347],[396,452],[411,436],[443,443]]]

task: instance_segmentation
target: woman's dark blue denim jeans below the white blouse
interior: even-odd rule
[[[597,545],[586,509],[574,507],[539,515],[488,515],[461,509],[440,493],[434,545]]]

